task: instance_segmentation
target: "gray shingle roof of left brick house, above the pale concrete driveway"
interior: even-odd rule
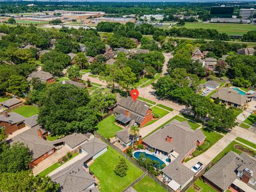
[[[33,160],[37,159],[38,157],[44,155],[45,153],[54,148],[51,142],[39,138],[37,133],[38,129],[41,129],[43,133],[45,132],[45,130],[43,130],[40,125],[36,125],[34,127],[31,127],[29,130],[13,137],[10,140],[10,145],[13,145],[14,142],[24,143],[33,153]]]

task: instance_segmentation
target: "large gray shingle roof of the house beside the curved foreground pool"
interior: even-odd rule
[[[166,137],[172,137],[172,143],[166,141]],[[149,135],[143,140],[149,146],[170,153],[176,151],[182,158],[196,147],[196,141],[205,139],[201,130],[192,130],[187,121],[180,122],[176,119]],[[183,155],[182,155],[183,154]]]

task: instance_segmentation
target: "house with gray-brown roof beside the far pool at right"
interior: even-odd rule
[[[221,103],[227,103],[229,106],[241,107],[249,100],[245,95],[240,94],[238,91],[229,88],[223,87],[217,92],[211,95],[212,99],[219,98]]]

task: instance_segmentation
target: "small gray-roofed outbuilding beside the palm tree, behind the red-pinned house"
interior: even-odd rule
[[[140,134],[136,135],[133,142],[137,142],[138,140],[140,140],[140,138]],[[124,147],[132,145],[132,135],[130,133],[130,127],[116,132],[116,140],[120,142]]]

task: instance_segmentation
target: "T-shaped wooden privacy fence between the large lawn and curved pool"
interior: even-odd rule
[[[141,179],[143,179],[146,175],[148,175],[151,179],[153,179],[154,181],[156,181],[158,183],[158,185],[162,186],[164,189],[166,189],[168,192],[174,192],[173,189],[171,189],[169,186],[165,185],[162,181],[160,181],[159,179],[157,179],[155,177],[155,175],[148,173],[148,171],[145,169],[145,167],[142,167],[139,165],[139,163],[137,161],[134,161],[133,158],[131,158],[129,155],[126,155],[125,153],[123,153],[122,150],[120,150],[119,148],[117,148],[116,146],[113,145],[113,143],[111,143],[110,141],[108,141],[106,138],[102,137],[101,134],[99,134],[98,132],[94,131],[94,135],[95,137],[101,139],[102,141],[104,141],[105,143],[107,143],[110,147],[114,148],[120,155],[122,155],[124,158],[126,158],[128,161],[130,161],[133,165],[137,166],[140,170],[143,171],[143,174],[136,179],[133,183],[131,183],[130,186],[128,186],[126,189],[124,189],[123,191],[126,191],[128,188],[134,186],[137,182],[139,182]]]

